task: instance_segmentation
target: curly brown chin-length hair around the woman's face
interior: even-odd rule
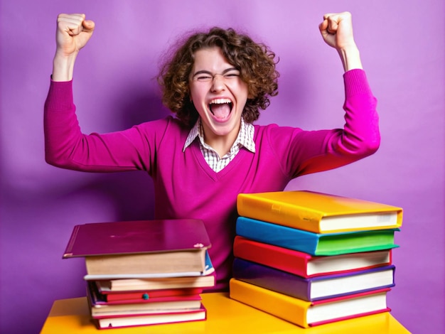
[[[187,126],[195,124],[198,112],[190,100],[189,87],[194,53],[215,46],[240,70],[241,79],[247,83],[249,98],[242,112],[243,119],[247,123],[256,121],[259,109],[266,109],[270,104],[269,97],[278,94],[279,72],[275,68],[278,60],[266,45],[255,43],[232,28],[213,27],[208,32],[195,32],[173,45],[157,77],[163,104]]]

